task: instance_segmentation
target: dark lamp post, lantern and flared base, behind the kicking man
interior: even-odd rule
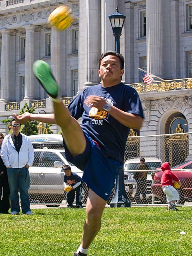
[[[115,13],[109,15],[109,20],[113,29],[113,35],[115,36],[115,50],[118,53],[120,53],[119,39],[121,36],[125,18],[125,15],[118,12],[118,7],[116,8]],[[129,201],[125,191],[123,167],[119,171],[119,175],[116,176],[115,193],[113,199],[111,200],[110,207],[131,207],[131,202]]]

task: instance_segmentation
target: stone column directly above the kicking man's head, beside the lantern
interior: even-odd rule
[[[116,12],[117,0],[101,0],[101,53],[115,51],[115,37],[108,16]]]

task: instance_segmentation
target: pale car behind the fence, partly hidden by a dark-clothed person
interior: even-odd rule
[[[161,167],[162,162],[158,157],[144,157],[144,158],[145,158],[145,163],[149,167],[149,170]],[[134,171],[136,170],[136,167],[138,164],[140,164],[140,157],[130,158],[130,159],[126,160],[124,163],[124,171],[127,171],[126,173],[130,173],[131,175],[134,175]],[[125,174],[125,172],[124,172],[124,174]],[[148,199],[152,196],[152,193],[151,193],[151,185],[152,185],[151,171],[148,171],[148,173],[147,173],[147,181],[148,182],[147,182],[146,197]],[[126,180],[125,180],[125,184],[126,184]],[[137,182],[133,178],[132,178],[132,187],[129,186],[129,189],[133,190],[132,197],[134,197],[134,195],[137,191]]]

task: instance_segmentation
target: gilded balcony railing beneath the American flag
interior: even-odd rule
[[[183,90],[192,88],[192,78],[165,80],[153,82],[150,85],[145,83],[127,84],[133,87],[138,93],[165,92],[171,90]]]

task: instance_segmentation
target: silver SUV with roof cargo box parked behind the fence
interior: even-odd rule
[[[63,190],[65,184],[62,164],[70,165],[72,172],[76,172],[80,177],[83,176],[83,172],[66,160],[64,149],[51,149],[63,148],[61,135],[43,134],[28,137],[36,148],[34,149],[33,165],[29,168],[30,188],[28,192],[30,201],[31,203],[60,204],[66,200],[66,192]],[[62,164],[60,167],[56,167],[55,162]],[[81,196],[82,203],[86,204],[88,188],[85,183]]]

